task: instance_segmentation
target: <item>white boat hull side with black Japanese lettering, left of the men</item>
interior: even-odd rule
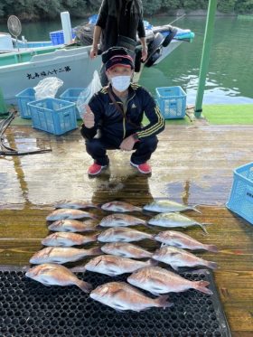
[[[56,97],[65,89],[87,87],[94,70],[99,70],[101,66],[101,57],[91,60],[89,49],[90,47],[60,49],[34,55],[30,61],[0,66],[0,88],[5,103],[16,103],[16,94],[23,89],[35,87],[40,80],[49,76],[63,81]]]

